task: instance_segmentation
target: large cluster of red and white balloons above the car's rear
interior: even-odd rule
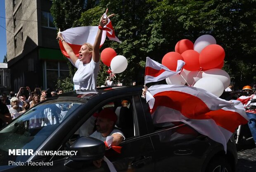
[[[194,42],[183,39],[175,45],[175,52],[168,52],[162,64],[175,71],[177,60],[185,61],[180,75],[166,78],[167,84],[187,85],[202,88],[220,97],[230,84],[230,76],[221,68],[224,65],[225,51],[216,44],[211,35],[202,35]]]

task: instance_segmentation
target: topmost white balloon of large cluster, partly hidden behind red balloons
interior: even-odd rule
[[[216,40],[212,35],[201,35],[194,42],[194,50],[200,53],[202,49],[211,44],[216,44]]]

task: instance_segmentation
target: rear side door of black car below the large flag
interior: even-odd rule
[[[146,104],[145,99],[142,99],[142,103]],[[148,108],[145,108],[145,118],[152,120]],[[202,156],[209,146],[205,136],[182,122],[148,124],[152,124],[148,125],[151,132],[149,135],[154,146],[153,158],[158,171],[200,171]]]

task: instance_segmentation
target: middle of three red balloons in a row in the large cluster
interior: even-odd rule
[[[200,70],[199,53],[198,52],[196,52],[193,49],[189,49],[189,50],[183,52],[181,55],[186,63],[184,68],[187,71],[199,71]]]

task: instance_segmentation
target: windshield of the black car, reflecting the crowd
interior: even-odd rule
[[[0,165],[6,165],[7,160],[17,162],[24,158],[10,156],[9,149],[35,151],[82,104],[81,101],[50,100],[14,119],[0,131]]]

